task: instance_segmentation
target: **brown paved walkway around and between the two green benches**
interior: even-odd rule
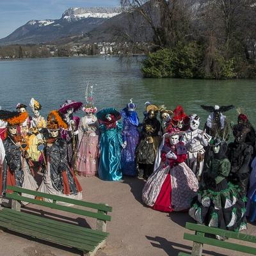
[[[110,236],[104,250],[97,256],[176,256],[180,251],[191,250],[189,241],[184,241],[186,221],[193,221],[188,213],[157,212],[141,204],[141,191],[144,181],[125,178],[120,182],[104,182],[97,177],[78,177],[84,189],[84,200],[104,202],[113,207],[112,221],[107,230]],[[33,207],[28,205],[26,211]],[[42,209],[42,207],[36,207]],[[54,218],[65,214],[66,218],[77,218],[65,212],[47,209]],[[53,214],[54,213],[54,214]],[[77,219],[81,225],[84,220]],[[86,220],[87,221],[87,220]],[[88,219],[89,225],[95,220]],[[256,227],[248,225],[247,234],[256,236]],[[15,236],[0,231],[0,256],[78,256],[81,252],[41,241],[32,241],[28,237]],[[205,246],[204,255],[248,255]]]

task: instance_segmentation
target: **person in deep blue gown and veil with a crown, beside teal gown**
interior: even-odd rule
[[[122,138],[125,148],[122,150],[121,166],[124,175],[137,175],[135,152],[140,140],[140,132],[138,131],[139,118],[136,113],[136,104],[132,99],[127,104],[127,107],[122,109],[121,115],[123,118]]]

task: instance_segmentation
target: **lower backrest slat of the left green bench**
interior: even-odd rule
[[[7,193],[6,197],[14,199],[14,200],[25,201],[25,202],[28,202],[28,203],[31,203],[31,204],[42,205],[42,206],[49,207],[49,208],[52,208],[52,209],[58,209],[60,211],[72,212],[72,213],[83,215],[83,216],[97,218],[99,220],[106,220],[106,221],[111,220],[111,216],[109,216],[109,215],[100,214],[98,212],[85,211],[85,210],[82,210],[82,209],[77,209],[77,208],[74,208],[74,207],[68,207],[68,206],[65,206],[65,205],[51,204],[49,202],[43,202],[41,200],[36,200],[36,199],[33,199],[33,198],[27,198],[25,196],[20,196],[17,193],[12,193],[12,194]]]

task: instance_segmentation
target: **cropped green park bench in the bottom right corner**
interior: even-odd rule
[[[207,227],[205,225],[195,224],[195,223],[186,223],[186,228],[189,230],[195,231],[195,234],[184,234],[184,239],[193,241],[193,248],[191,254],[180,252],[179,256],[202,256],[202,247],[203,244],[209,244],[211,246],[217,246],[225,248],[228,250],[233,250],[236,252],[250,253],[251,255],[256,255],[256,247],[246,246],[242,244],[230,243],[230,241],[219,241],[218,239],[205,237],[205,234],[218,235],[221,237],[227,237],[232,239],[237,239],[240,241],[246,241],[250,243],[256,243],[256,236],[250,236],[244,233],[238,233],[228,230],[223,230],[220,228]],[[238,254],[234,254],[238,255]]]

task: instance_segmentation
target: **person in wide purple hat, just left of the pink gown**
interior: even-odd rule
[[[80,121],[80,118],[78,116],[74,116],[73,113],[81,109],[82,106],[83,106],[82,102],[77,102],[74,100],[66,100],[65,103],[59,109],[60,113],[65,115],[65,122],[68,124],[67,129],[61,129],[61,137],[67,141],[68,164],[73,169],[74,167],[76,167],[75,166],[76,157],[74,156],[74,152],[77,150],[77,140],[78,140],[77,129]]]

